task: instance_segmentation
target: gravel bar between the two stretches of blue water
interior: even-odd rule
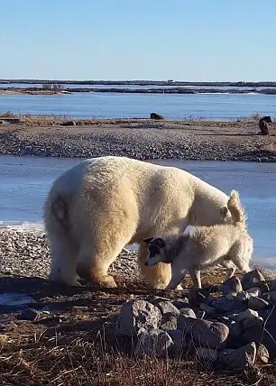
[[[276,161],[275,124],[259,135],[258,119],[233,122],[148,119],[79,120],[0,117],[0,154],[59,158],[105,155],[138,160]],[[68,125],[64,125],[68,124]],[[71,124],[71,125],[70,125]]]

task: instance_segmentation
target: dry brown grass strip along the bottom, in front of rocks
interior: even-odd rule
[[[35,339],[33,339],[35,340]],[[267,386],[275,384],[275,367],[222,372],[198,358],[137,359],[89,333],[36,338],[32,344],[0,349],[1,385],[118,386]]]

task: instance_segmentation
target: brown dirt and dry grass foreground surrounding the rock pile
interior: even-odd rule
[[[205,285],[224,280],[217,269]],[[176,359],[137,359],[133,345],[115,334],[116,317],[129,299],[181,299],[183,291],[149,290],[141,280],[115,276],[118,289],[98,289],[82,281],[69,289],[41,278],[0,279],[0,293],[23,292],[41,310],[38,320],[21,319],[19,308],[2,308],[0,384],[2,385],[261,385],[276,384],[276,366],[257,364],[246,371],[223,371],[189,355]]]

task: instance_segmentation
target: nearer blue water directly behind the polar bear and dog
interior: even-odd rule
[[[77,160],[0,157],[0,225],[41,225],[51,183]],[[276,164],[219,161],[154,161],[185,169],[229,193],[236,188],[248,214],[255,262],[276,268]]]

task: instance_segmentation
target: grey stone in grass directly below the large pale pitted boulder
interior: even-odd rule
[[[163,358],[168,355],[173,340],[166,331],[154,328],[146,331],[142,330],[138,334],[138,341],[135,346],[135,355],[138,357],[149,356],[152,358]]]

